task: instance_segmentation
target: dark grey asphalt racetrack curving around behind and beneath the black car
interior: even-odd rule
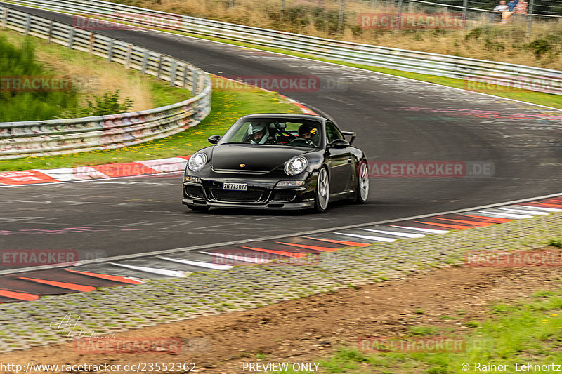
[[[3,5],[72,25],[69,15]],[[181,205],[178,173],[1,188],[0,251],[128,255],[295,235],[562,190],[562,111],[202,39],[137,30],[99,33],[222,76],[318,76],[319,91],[285,95],[358,133],[354,145],[370,161],[487,161],[493,163],[494,175],[372,178],[366,204],[336,203],[321,215],[226,209],[193,213]]]

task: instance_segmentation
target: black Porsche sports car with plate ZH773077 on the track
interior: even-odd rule
[[[351,136],[345,140],[344,135]],[[251,114],[195,152],[185,168],[183,203],[195,211],[229,208],[323,212],[330,201],[369,194],[365,153],[355,133],[308,114]]]

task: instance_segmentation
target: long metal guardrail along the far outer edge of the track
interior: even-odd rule
[[[11,2],[64,13],[97,15],[105,20],[115,20],[117,22],[124,22],[126,20],[127,23],[140,27],[162,28],[154,27],[151,16],[172,19],[174,20],[174,25],[178,24],[177,20],[179,19],[181,22],[179,22],[178,26],[169,27],[173,28],[174,32],[187,32],[242,41],[259,46],[281,48],[286,51],[305,53],[329,60],[386,67],[403,72],[446,76],[473,81],[477,84],[521,87],[531,91],[562,95],[562,72],[558,70],[439,55],[436,53],[407,51],[348,41],[336,41],[315,36],[205,20],[100,0],[15,0]]]

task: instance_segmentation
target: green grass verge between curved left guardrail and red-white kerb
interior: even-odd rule
[[[207,147],[211,135],[223,135],[241,116],[260,112],[294,112],[299,109],[275,93],[264,91],[213,91],[212,112],[199,125],[168,138],[152,140],[141,145],[112,151],[92,151],[60,156],[25,157],[0,161],[0,171],[27,170],[32,168],[72,168],[74,166],[99,165],[145,159],[163,159],[186,156]]]

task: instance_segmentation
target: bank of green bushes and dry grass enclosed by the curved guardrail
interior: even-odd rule
[[[0,92],[0,122],[72,118],[88,100],[119,91],[119,98],[133,100],[133,111],[179,102],[188,91],[169,86],[122,65],[58,44],[46,44],[32,36],[0,31],[2,76],[66,77],[63,92]]]

